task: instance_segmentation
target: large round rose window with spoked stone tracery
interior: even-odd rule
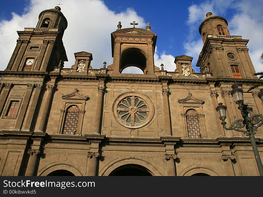
[[[149,97],[133,91],[122,94],[115,100],[113,112],[121,125],[128,128],[139,128],[152,120],[154,106]]]

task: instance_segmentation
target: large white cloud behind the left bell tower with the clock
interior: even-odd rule
[[[35,27],[39,13],[55,7],[56,4],[56,0],[32,0],[24,15],[19,16],[13,13],[10,21],[0,22],[0,40],[2,46],[5,46],[0,48],[2,54],[0,70],[6,68],[16,46],[18,38],[16,31],[23,31],[24,27]],[[110,33],[116,31],[119,21],[122,23],[122,28],[131,27],[130,22],[133,20],[138,22],[138,28],[146,28],[144,19],[134,10],[127,9],[125,12],[115,13],[109,10],[103,1],[65,0],[60,7],[68,20],[68,28],[62,39],[68,56],[65,67],[71,67],[74,64],[74,52],[79,51],[92,53],[93,68],[103,67],[104,61],[107,65],[112,64]]]

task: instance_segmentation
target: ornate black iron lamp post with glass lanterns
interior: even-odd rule
[[[256,145],[255,136],[257,128],[260,127],[263,124],[263,116],[261,114],[252,114],[252,108],[248,107],[246,104],[244,104],[243,100],[243,89],[241,83],[235,83],[232,85],[232,91],[231,94],[236,102],[238,104],[238,109],[241,111],[243,119],[235,120],[232,125],[227,128],[225,121],[226,117],[226,109],[227,107],[223,105],[223,103],[218,103],[218,106],[215,108],[218,112],[219,118],[222,121],[222,125],[225,130],[235,130],[238,132],[243,132],[247,136],[249,136],[249,139],[252,144],[253,152],[255,155],[256,163],[259,169],[259,175],[263,176],[263,166],[262,162],[260,160],[259,151]],[[260,94],[260,93],[259,93]],[[263,91],[262,91],[263,95]],[[242,130],[241,128],[245,127],[246,130]]]

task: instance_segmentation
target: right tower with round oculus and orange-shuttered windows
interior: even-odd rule
[[[255,69],[248,54],[249,40],[231,35],[225,18],[208,12],[199,33],[204,46],[196,66],[202,73],[210,72],[221,78],[257,78],[253,76]]]

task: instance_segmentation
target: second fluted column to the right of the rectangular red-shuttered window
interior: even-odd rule
[[[30,107],[30,110],[29,110],[29,114],[28,114],[28,117],[27,117],[27,121],[26,121],[26,124],[25,124],[25,130],[30,130],[30,127],[31,127],[31,123],[32,123],[32,120],[33,120],[33,117],[34,117],[34,114],[36,112],[36,105],[37,105],[37,102],[39,100],[39,94],[41,92],[41,88],[42,88],[42,84],[36,84],[35,85],[35,94],[34,94],[34,97],[33,97],[33,102],[31,104],[31,107]]]

